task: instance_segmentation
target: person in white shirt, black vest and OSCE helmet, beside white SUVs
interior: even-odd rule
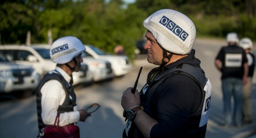
[[[36,93],[39,135],[46,125],[54,125],[59,114],[59,126],[85,121],[90,116],[84,109],[77,110],[76,94],[72,87],[72,72],[81,67],[82,42],[73,36],[57,39],[50,48],[51,60],[57,63],[55,70],[42,79]]]

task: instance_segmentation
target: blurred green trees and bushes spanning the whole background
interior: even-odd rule
[[[124,8],[122,0],[3,0],[1,42],[25,43],[27,31],[31,30],[32,43],[47,43],[47,32],[51,30],[54,40],[76,36],[84,44],[108,53],[121,44],[133,59],[135,43],[146,32],[143,20],[165,8],[190,17],[197,36],[226,37],[229,32],[237,32],[240,38],[256,40],[256,15],[247,10],[248,1],[137,0]]]

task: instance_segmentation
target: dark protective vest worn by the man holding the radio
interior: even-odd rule
[[[201,93],[202,93],[202,99],[200,102],[200,106],[202,108],[198,108],[196,113],[201,113],[200,115],[197,115],[195,117],[194,114],[190,115],[189,117],[189,122],[188,122],[188,126],[187,129],[190,132],[194,132],[194,137],[197,136],[201,136],[201,135],[205,135],[205,131],[204,129],[202,129],[203,131],[201,131],[201,129],[199,129],[200,127],[206,127],[207,121],[208,121],[208,117],[209,117],[209,107],[210,107],[210,99],[211,99],[211,92],[212,92],[212,85],[209,81],[208,78],[206,78],[204,71],[202,70],[201,67],[194,67],[191,66],[189,64],[180,64],[178,66],[175,66],[173,68],[170,68],[166,71],[164,71],[163,73],[157,75],[153,81],[152,84],[150,86],[150,89],[147,90],[147,94],[146,96],[146,101],[141,101],[141,106],[143,106],[143,111],[145,113],[147,113],[149,116],[153,116],[153,113],[151,111],[150,108],[150,100],[151,97],[153,95],[153,93],[157,90],[158,86],[168,77],[173,76],[173,75],[177,75],[177,74],[184,74],[187,75],[188,77],[192,78],[197,85],[200,87],[201,89]],[[147,87],[148,85],[146,84],[144,87]],[[141,94],[143,93],[143,89],[141,90]],[[145,89],[144,89],[145,90]],[[199,122],[200,120],[200,122]],[[125,133],[125,130],[124,130]],[[126,137],[125,134],[123,133],[123,137]],[[186,135],[186,134],[184,134]],[[193,137],[191,136],[191,137]],[[137,126],[132,123],[132,127],[131,130],[129,130],[128,136],[127,137],[144,137],[142,135],[142,133],[140,132],[140,130],[137,128]]]

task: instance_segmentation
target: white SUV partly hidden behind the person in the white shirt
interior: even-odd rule
[[[33,66],[41,77],[54,70],[56,66],[56,63],[50,59],[50,45],[5,45],[0,46],[0,50],[14,63]],[[88,71],[88,66],[85,64],[81,64],[80,71],[72,75],[73,85],[92,82],[92,73]]]

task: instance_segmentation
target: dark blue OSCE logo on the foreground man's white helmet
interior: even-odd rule
[[[169,18],[163,16],[159,23],[163,24],[166,28],[172,31],[175,35],[177,35],[180,39],[185,41],[188,37],[188,33],[185,32],[179,25],[170,20]]]

